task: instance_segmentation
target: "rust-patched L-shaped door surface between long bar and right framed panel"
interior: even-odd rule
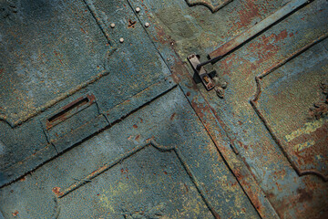
[[[311,218],[326,214],[324,212],[327,211],[327,202],[324,197],[327,195],[327,184],[314,175],[300,177],[297,174],[297,169],[292,168],[282,148],[272,138],[272,134],[266,130],[261,120],[256,118],[256,113],[252,111],[249,104],[249,99],[252,99],[250,94],[256,93],[257,86],[254,80],[256,76],[279,66],[299,49],[312,44],[313,40],[326,34],[327,8],[326,2],[315,1],[223,59],[217,64],[216,69],[224,78],[223,80],[229,84],[225,100],[216,99],[213,94],[205,94],[213,108],[218,111],[221,120],[226,124],[226,130],[231,134],[238,134],[239,143],[235,145],[235,148],[250,166],[264,193],[267,194],[282,218]],[[314,53],[316,51],[313,51]],[[292,68],[289,70],[292,71]],[[301,73],[299,75],[302,76]],[[299,79],[304,81],[302,78]],[[265,83],[264,78],[263,82]],[[279,86],[278,82],[273,83],[272,88]],[[319,87],[319,84],[316,86]],[[305,108],[309,101],[302,97],[302,94],[306,93],[306,89],[304,87],[299,89],[294,93],[294,97],[289,94],[281,98],[285,103],[289,103],[289,106],[292,105],[293,99],[300,100],[300,102],[295,102],[295,105],[300,106],[295,107],[295,110],[293,108],[280,110],[281,117],[291,118],[292,121],[298,120],[295,124],[288,124],[290,129],[291,126],[295,126],[292,130],[297,130],[297,126],[302,126],[307,122],[304,120],[305,116],[297,114],[296,111],[301,107]],[[274,96],[278,96],[276,90],[273,93]],[[315,101],[313,94],[308,93],[306,97],[309,95]],[[296,98],[297,96],[298,98]],[[272,104],[277,102],[279,101],[275,99]],[[262,104],[264,103],[262,102]],[[270,108],[272,107],[274,106],[270,106]],[[287,108],[288,105],[281,107]],[[272,111],[272,114],[275,112]],[[274,131],[283,133],[282,123],[276,126],[276,129]],[[323,131],[319,138],[324,139],[325,136],[326,131]],[[289,150],[292,151],[292,149]],[[265,151],[264,154],[263,151]],[[324,153],[324,150],[321,153]],[[311,156],[308,159],[311,160]],[[307,165],[306,168],[311,168],[313,164],[315,165],[315,162],[313,164],[310,162],[308,162],[309,164],[304,163],[303,167]],[[320,165],[318,167],[322,168]]]

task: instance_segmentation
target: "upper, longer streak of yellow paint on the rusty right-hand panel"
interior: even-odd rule
[[[297,137],[300,137],[303,134],[311,134],[315,130],[321,128],[325,122],[327,122],[328,118],[322,118],[320,120],[313,120],[310,122],[306,122],[304,126],[298,130],[292,131],[291,134],[285,136],[285,140],[287,142],[294,140]]]

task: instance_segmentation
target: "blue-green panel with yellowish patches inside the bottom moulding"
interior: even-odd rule
[[[73,184],[58,201],[59,218],[213,218],[179,154],[155,145],[129,151],[96,178],[81,179],[82,187]]]

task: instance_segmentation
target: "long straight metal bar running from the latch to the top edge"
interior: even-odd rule
[[[293,0],[290,3],[288,3],[287,5],[282,6],[281,9],[277,10],[271,16],[266,17],[260,23],[256,24],[255,26],[252,26],[248,30],[242,32],[240,35],[234,37],[227,43],[223,44],[221,47],[218,47],[217,49],[212,51],[209,54],[210,60],[199,63],[197,65],[196,69],[200,69],[209,63],[214,63],[216,61],[219,61],[222,57],[226,56],[228,53],[230,53],[235,48],[240,47],[242,44],[246,43],[252,37],[258,35],[263,30],[274,25],[279,20],[281,20],[283,17],[289,16],[296,9],[298,9],[302,5],[308,4],[309,2],[311,2],[311,1]]]

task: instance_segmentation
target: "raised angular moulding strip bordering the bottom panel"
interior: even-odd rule
[[[200,183],[198,183],[197,179],[194,177],[195,174],[190,170],[190,167],[188,166],[187,162],[184,162],[183,157],[181,156],[179,151],[175,147],[168,147],[168,146],[159,145],[154,140],[146,141],[143,144],[139,144],[137,147],[133,148],[132,150],[127,151],[125,153],[122,153],[120,156],[118,156],[117,159],[113,160],[112,162],[108,162],[108,163],[104,164],[103,166],[99,167],[97,170],[87,174],[86,177],[84,177],[83,179],[81,179],[77,183],[73,183],[73,184],[69,185],[62,192],[60,192],[59,187],[55,187],[53,189],[53,193],[56,194],[56,197],[58,199],[61,199],[64,196],[66,196],[68,193],[72,193],[73,191],[77,190],[79,187],[81,187],[81,186],[83,186],[87,183],[91,183],[91,180],[96,178],[101,173],[107,172],[110,168],[114,167],[115,165],[119,164],[120,162],[123,162],[124,160],[131,157],[133,154],[147,148],[148,146],[152,146],[152,147],[154,147],[155,149],[157,149],[159,151],[173,151],[177,155],[180,164],[183,166],[184,170],[187,172],[188,176],[190,177],[191,182],[195,185],[198,193],[200,193],[200,197],[204,201],[206,206],[209,208],[210,213],[213,214],[214,218],[220,219],[220,215],[215,212],[214,208],[207,201],[209,199],[208,199],[206,193],[204,193],[203,189],[200,186]]]

